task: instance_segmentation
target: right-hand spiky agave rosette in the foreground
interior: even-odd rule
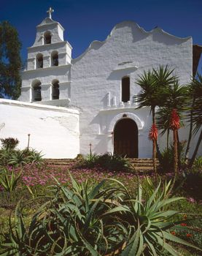
[[[120,181],[116,182],[119,182],[125,190],[125,198],[121,206],[110,209],[105,215],[120,214],[120,212],[123,214],[122,219],[125,219],[129,231],[127,245],[121,253],[122,256],[163,255],[163,253],[179,255],[179,252],[171,244],[168,244],[168,241],[198,249],[193,244],[170,233],[171,227],[177,228],[176,225],[183,222],[173,221],[173,217],[179,214],[178,211],[166,209],[176,200],[183,199],[183,197],[169,197],[171,182],[164,184],[162,189],[161,182],[155,188],[155,184],[151,184],[151,180],[149,180],[150,188],[155,189],[152,189],[152,194],[145,200],[145,203],[143,203],[141,184],[138,186],[136,197],[132,197]]]

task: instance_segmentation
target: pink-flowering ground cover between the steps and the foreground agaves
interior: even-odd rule
[[[7,167],[8,172],[12,173],[12,170],[16,175],[22,172],[20,176],[20,181],[18,182],[18,187],[14,192],[4,192],[4,189],[0,188],[0,233],[5,232],[8,229],[9,221],[8,216],[10,211],[13,210],[20,200],[23,197],[23,200],[27,201],[32,198],[33,195],[28,190],[28,187],[31,188],[31,191],[40,194],[46,195],[46,189],[50,185],[55,184],[55,178],[64,185],[69,185],[71,183],[71,179],[69,177],[68,170],[71,171],[72,176],[79,182],[85,181],[87,178],[90,184],[97,184],[99,181],[104,178],[116,178],[118,181],[123,182],[123,184],[128,188],[129,191],[135,192],[137,187],[137,174],[136,173],[124,173],[124,172],[115,172],[105,170],[101,167],[77,167],[74,163],[69,163],[69,166],[58,166],[58,165],[24,165],[23,167]],[[143,173],[139,173],[139,180],[141,184],[145,184],[145,176]],[[154,177],[151,173],[151,178]],[[164,178],[171,178],[173,176],[172,173],[167,173]],[[146,189],[147,190],[147,189]],[[182,191],[181,191],[182,192]],[[179,194],[181,193],[179,191]],[[181,193],[183,195],[183,193]],[[48,195],[47,195],[48,196]],[[22,201],[23,201],[22,200]],[[40,200],[38,203],[33,206],[28,205],[25,211],[25,217],[27,222],[29,222],[31,214],[39,208]],[[182,214],[187,213],[188,215],[184,217],[184,220],[189,216],[189,214],[202,214],[202,206],[201,201],[196,200],[194,197],[188,196],[187,199],[182,200],[180,202],[174,203],[174,209],[182,211]],[[184,238],[187,241],[193,242],[197,246],[201,246],[202,244],[202,224],[201,220],[195,220],[192,222],[182,223],[182,227],[186,227],[187,230],[175,230],[174,228],[171,230],[171,233],[174,236],[179,236]],[[0,236],[1,241],[1,236]],[[194,254],[193,255],[197,255]],[[186,255],[186,254],[184,254]],[[187,254],[188,255],[188,254]]]

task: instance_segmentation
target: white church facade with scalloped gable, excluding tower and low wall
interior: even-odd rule
[[[136,23],[126,21],[117,24],[104,42],[92,42],[71,63],[71,104],[80,110],[81,153],[89,151],[89,143],[96,153],[112,152],[112,120],[127,112],[136,115],[143,124],[139,128],[139,157],[152,157],[149,109],[136,110],[132,103],[133,95],[140,91],[136,79],[144,70],[168,64],[175,69],[180,83],[187,83],[193,67],[192,38],[174,37],[159,28],[146,32]],[[120,104],[121,80],[125,75],[131,80],[131,105]],[[160,142],[163,147],[165,140]]]

